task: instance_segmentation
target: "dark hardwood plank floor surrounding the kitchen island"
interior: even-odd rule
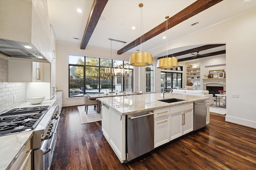
[[[255,170],[256,129],[210,113],[205,129],[121,164],[101,121],[81,124],[77,106],[63,107],[51,170]]]

